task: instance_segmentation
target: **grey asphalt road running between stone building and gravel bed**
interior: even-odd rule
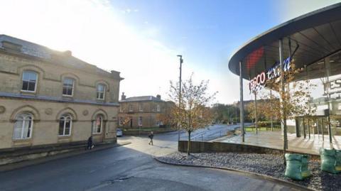
[[[204,133],[208,138],[233,127],[213,126],[193,135]],[[0,190],[292,190],[226,170],[153,160],[153,155],[176,151],[177,140],[176,132],[157,134],[154,146],[146,137],[122,137],[119,141],[131,144],[0,173]]]

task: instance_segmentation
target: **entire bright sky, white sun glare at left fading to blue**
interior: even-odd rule
[[[341,0],[12,0],[1,1],[0,33],[72,55],[125,79],[128,97],[161,94],[178,80],[210,80],[216,102],[239,99],[228,61],[254,36]],[[18,5],[21,6],[18,6]],[[15,12],[15,14],[13,14]],[[9,16],[10,15],[10,16]],[[247,87],[247,82],[244,82]],[[247,88],[246,88],[247,89]],[[245,99],[250,99],[247,91]]]

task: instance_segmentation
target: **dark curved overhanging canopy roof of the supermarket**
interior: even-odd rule
[[[293,18],[249,40],[229,60],[229,70],[246,80],[269,70],[279,60],[283,39],[283,59],[293,55],[296,67],[310,65],[341,50],[341,3]],[[289,41],[291,46],[289,46]]]

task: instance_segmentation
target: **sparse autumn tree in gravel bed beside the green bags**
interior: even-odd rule
[[[281,91],[281,83],[278,79],[270,80],[266,83],[266,88],[262,89],[262,99],[268,99],[269,104],[266,104],[267,108],[262,109],[265,116],[272,116],[276,119],[280,119],[284,129],[283,136],[283,153],[286,153],[288,148],[288,138],[286,132],[288,127],[285,121],[287,119],[295,119],[296,116],[302,116],[305,114],[311,114],[313,111],[309,107],[310,89],[315,87],[314,84],[308,82],[308,80],[296,80],[296,77],[303,71],[301,69],[296,70],[293,62],[291,63],[291,70],[284,72],[285,89]],[[269,89],[272,91],[270,93]],[[283,156],[284,158],[284,156]],[[286,163],[284,158],[284,163]]]

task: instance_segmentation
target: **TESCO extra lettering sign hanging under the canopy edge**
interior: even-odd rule
[[[291,58],[288,57],[283,61],[283,70],[284,72],[291,69]],[[261,72],[259,75],[256,75],[249,82],[249,89],[256,90],[265,84],[266,80],[272,80],[274,78],[281,76],[281,66],[279,62],[274,64],[274,67],[271,67],[267,72]]]

